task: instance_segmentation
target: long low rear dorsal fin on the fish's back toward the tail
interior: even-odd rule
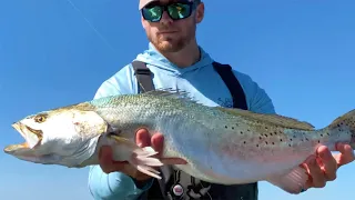
[[[298,121],[296,119],[283,117],[278,114],[256,113],[256,112],[251,112],[248,110],[242,110],[242,109],[235,109],[235,108],[217,107],[217,109],[233,116],[240,116],[247,120],[260,121],[260,122],[270,123],[270,124],[274,124],[283,128],[308,130],[308,131],[314,130],[314,127],[308,122]]]

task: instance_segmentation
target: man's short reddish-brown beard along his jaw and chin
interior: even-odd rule
[[[169,37],[161,37],[158,36],[153,38],[151,34],[148,33],[148,39],[152,44],[160,51],[160,52],[178,52],[182,50],[186,44],[189,44],[193,38],[195,37],[195,31],[193,27],[191,31],[186,36],[169,36]]]

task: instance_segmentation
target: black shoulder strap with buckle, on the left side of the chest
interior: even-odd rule
[[[145,63],[140,61],[133,61],[132,67],[138,80],[139,92],[154,90],[152,72],[146,68]]]

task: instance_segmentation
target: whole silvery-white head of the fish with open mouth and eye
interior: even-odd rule
[[[60,108],[32,114],[12,127],[26,140],[11,144],[4,152],[21,160],[80,166],[95,151],[97,140],[106,132],[106,122],[93,110]]]

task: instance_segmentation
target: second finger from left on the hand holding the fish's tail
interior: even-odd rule
[[[336,179],[337,163],[327,147],[320,147],[318,153],[318,164],[323,169],[326,180]]]

